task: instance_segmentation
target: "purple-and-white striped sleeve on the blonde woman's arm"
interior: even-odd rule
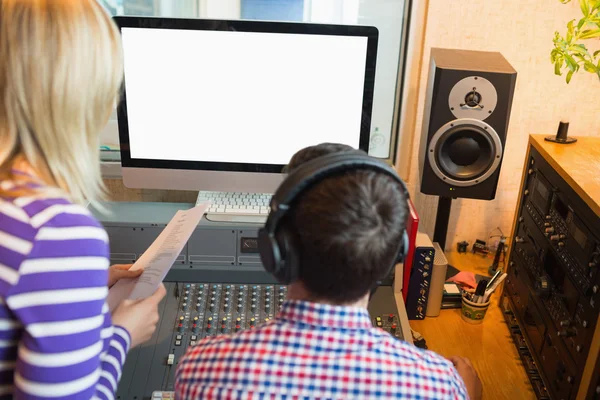
[[[114,399],[130,337],[105,302],[106,231],[66,200],[24,209],[36,233],[6,296],[23,329],[15,398]]]

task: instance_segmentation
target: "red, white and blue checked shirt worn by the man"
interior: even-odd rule
[[[180,361],[178,399],[466,399],[443,357],[373,328],[366,309],[286,301],[257,329],[204,339]]]

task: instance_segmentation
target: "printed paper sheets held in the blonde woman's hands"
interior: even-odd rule
[[[124,299],[144,299],[158,289],[209,206],[209,203],[201,203],[189,210],[177,211],[154,243],[131,267],[144,272],[136,279],[122,279],[110,288],[106,299],[110,311]]]

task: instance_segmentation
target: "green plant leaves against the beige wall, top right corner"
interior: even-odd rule
[[[563,4],[571,2],[559,1]],[[566,71],[567,83],[581,67],[600,79],[600,50],[591,53],[585,45],[590,39],[600,38],[600,0],[579,0],[579,5],[583,16],[579,21],[569,21],[565,35],[555,33],[554,48],[550,53],[554,73],[562,75]]]

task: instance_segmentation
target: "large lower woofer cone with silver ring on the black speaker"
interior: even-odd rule
[[[484,121],[463,118],[448,122],[433,135],[428,147],[433,172],[454,186],[473,186],[500,166],[500,137]]]

